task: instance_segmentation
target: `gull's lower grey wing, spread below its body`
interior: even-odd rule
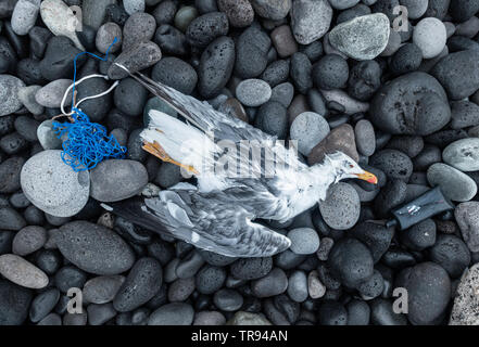
[[[215,194],[171,190],[156,198],[135,197],[103,207],[154,232],[229,257],[267,257],[290,246],[288,237],[252,222],[245,209]]]

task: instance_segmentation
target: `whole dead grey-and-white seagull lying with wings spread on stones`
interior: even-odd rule
[[[225,256],[266,257],[291,242],[253,220],[285,222],[324,200],[328,188],[343,179],[377,183],[344,153],[326,155],[322,164],[308,167],[283,141],[118,66],[185,118],[150,111],[149,126],[140,134],[143,149],[198,179],[197,185],[178,183],[157,197],[102,204],[134,223]],[[254,150],[263,155],[252,155]],[[238,153],[247,155],[241,159]],[[218,162],[228,163],[228,169],[218,170]],[[237,166],[232,172],[231,166]]]

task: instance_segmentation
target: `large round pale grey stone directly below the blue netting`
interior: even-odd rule
[[[60,154],[48,150],[30,157],[22,168],[21,184],[35,206],[56,217],[70,217],[87,204],[89,174],[73,171]]]

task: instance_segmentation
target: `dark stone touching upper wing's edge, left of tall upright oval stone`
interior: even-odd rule
[[[175,56],[166,56],[157,62],[153,67],[151,77],[153,80],[163,82],[184,94],[191,94],[198,82],[194,68]]]

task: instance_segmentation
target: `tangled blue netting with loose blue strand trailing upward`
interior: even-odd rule
[[[73,123],[53,121],[52,128],[56,137],[66,140],[63,142],[62,160],[74,171],[85,171],[94,168],[105,158],[124,158],[126,147],[119,145],[113,136],[108,136],[106,128],[98,123],[91,123],[88,116],[77,108],[75,101],[76,61],[83,54],[88,54],[101,61],[106,61],[109,51],[116,42],[116,38],[106,51],[104,57],[89,52],[81,52],[74,60],[74,79],[72,88],[72,119]]]

